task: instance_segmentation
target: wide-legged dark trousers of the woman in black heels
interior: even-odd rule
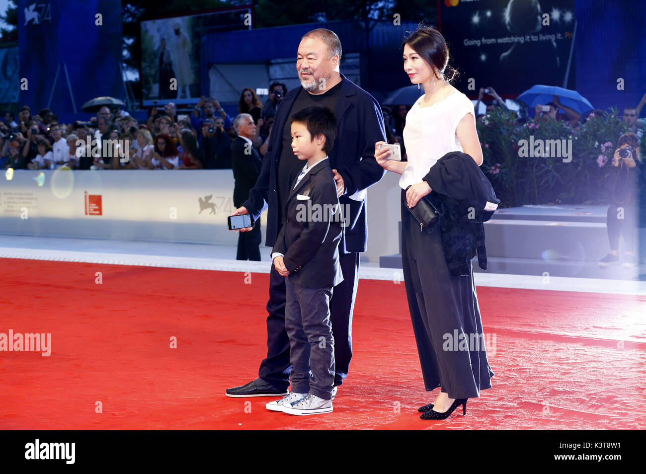
[[[448,273],[438,225],[430,234],[406,207],[402,190],[402,263],[424,386],[449,398],[479,397],[494,376],[486,357],[473,270]],[[488,338],[488,340],[495,340]]]

